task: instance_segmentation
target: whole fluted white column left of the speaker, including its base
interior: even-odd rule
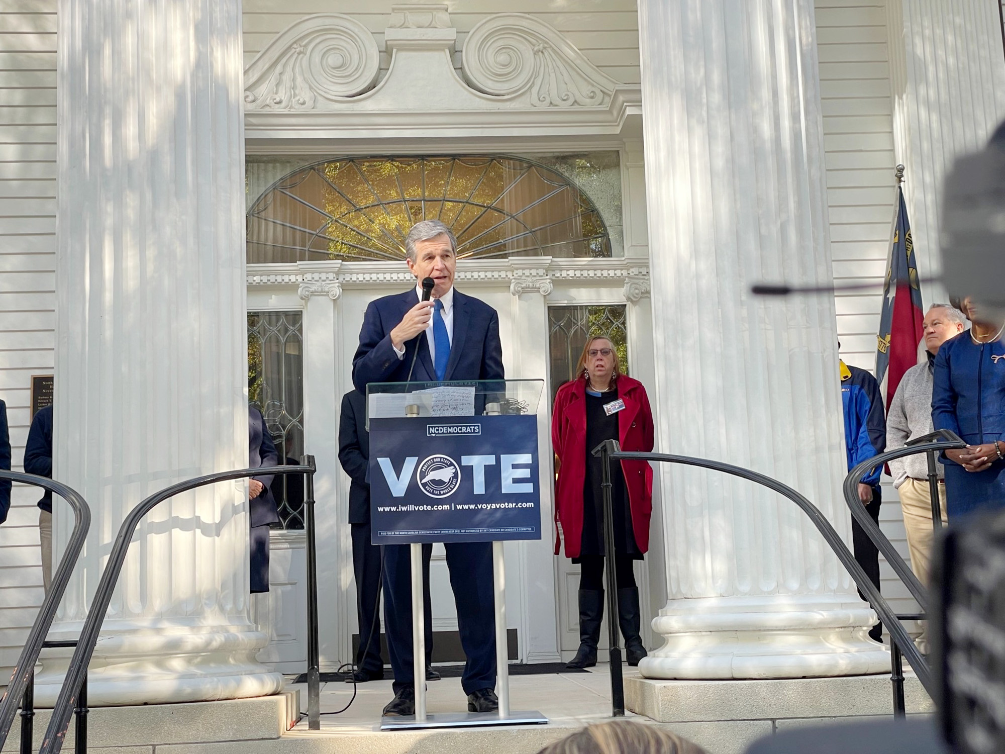
[[[61,0],[54,477],[91,506],[53,634],[79,630],[126,514],[248,461],[241,9]],[[90,666],[97,705],[273,694],[248,618],[245,483],[141,524]],[[57,552],[68,538],[57,519]],[[51,703],[66,657],[46,661]]]

